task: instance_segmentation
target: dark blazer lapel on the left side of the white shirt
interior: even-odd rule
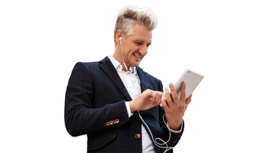
[[[117,85],[118,89],[124,94],[124,96],[132,101],[132,98],[130,97],[130,94],[126,90],[121,78],[119,77],[116,69],[114,68],[112,62],[108,57],[105,57],[105,59],[99,61],[100,67],[107,73],[108,77]]]

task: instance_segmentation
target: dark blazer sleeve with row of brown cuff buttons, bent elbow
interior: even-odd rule
[[[92,108],[94,87],[90,69],[78,62],[71,73],[65,94],[65,127],[71,136],[115,128],[128,122],[124,101]]]

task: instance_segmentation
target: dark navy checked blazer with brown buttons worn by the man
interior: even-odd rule
[[[137,69],[137,74],[141,80],[141,92],[163,90],[162,82],[141,68]],[[65,127],[71,136],[87,135],[87,152],[139,153],[142,152],[141,124],[144,125],[140,113],[154,140],[168,140],[169,130],[162,120],[164,108],[155,106],[134,112],[129,118],[125,101],[132,101],[132,98],[108,57],[99,62],[78,62],[65,94]],[[183,128],[179,135],[171,135],[169,147],[178,143],[182,133]],[[154,147],[158,153],[165,150],[155,143]]]

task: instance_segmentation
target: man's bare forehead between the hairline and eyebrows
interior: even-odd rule
[[[141,40],[151,43],[152,31],[149,31],[146,27],[144,27],[144,25],[134,24],[133,33],[128,37],[132,38],[133,40]]]

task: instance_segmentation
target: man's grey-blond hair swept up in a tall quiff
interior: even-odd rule
[[[126,6],[117,16],[114,30],[114,42],[117,31],[121,30],[125,37],[133,33],[133,25],[144,25],[149,31],[157,27],[157,16],[150,8],[136,8],[134,6]]]

